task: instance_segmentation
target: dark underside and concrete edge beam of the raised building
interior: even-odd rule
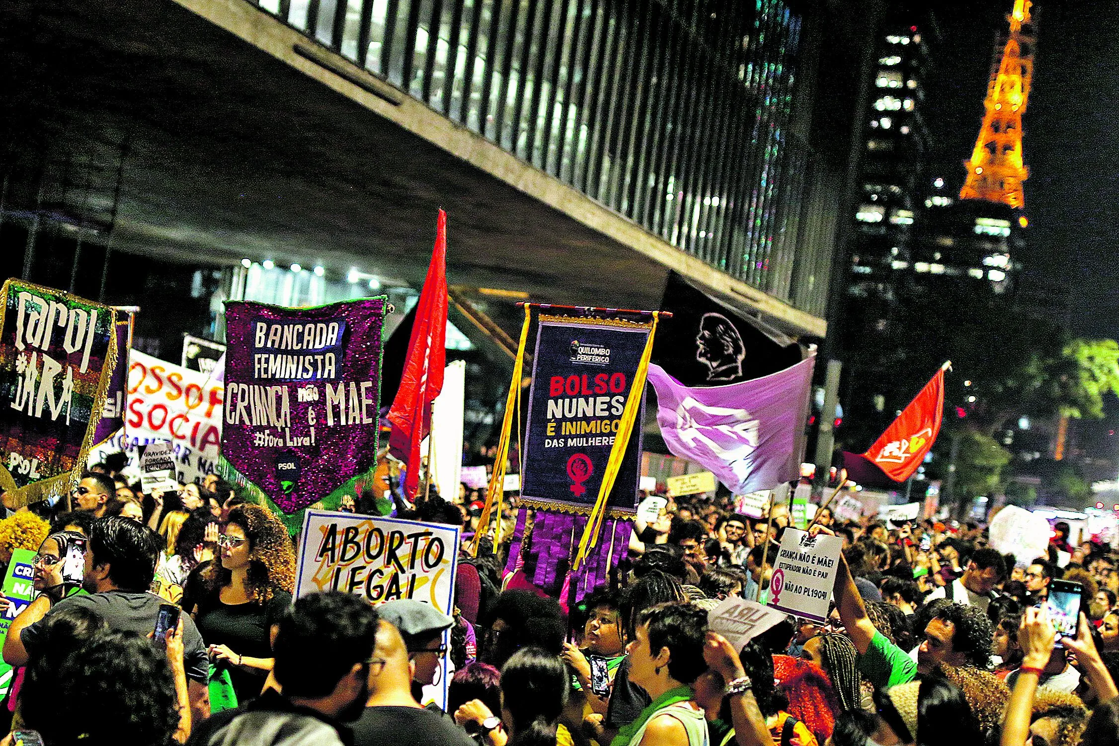
[[[653,309],[675,270],[787,332],[826,331],[244,0],[9,0],[0,22],[0,157],[65,163],[77,196],[41,207],[81,213],[114,252],[419,286],[443,207],[454,284]]]

